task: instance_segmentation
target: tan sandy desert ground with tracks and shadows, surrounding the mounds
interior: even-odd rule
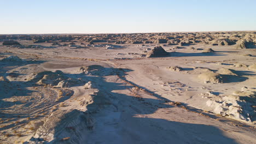
[[[141,55],[155,45],[123,44],[114,49],[42,45],[46,48],[1,46],[0,59],[18,56],[22,61],[0,61],[0,143],[256,141],[255,113],[249,120],[230,113],[223,116],[207,105],[224,101],[243,87],[253,93],[256,71],[248,66],[256,62],[255,49],[163,46],[170,55],[146,58]],[[202,53],[206,48],[216,52]],[[234,66],[237,63],[246,66]],[[183,70],[167,68],[173,66]],[[226,68],[236,76],[223,83],[204,82],[198,77],[203,71],[196,68],[214,73]]]

